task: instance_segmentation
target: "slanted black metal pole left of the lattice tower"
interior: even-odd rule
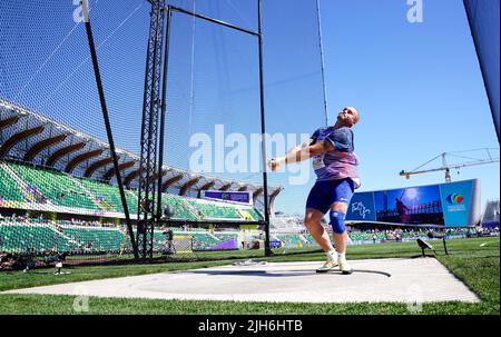
[[[84,14],[85,14],[87,39],[89,41],[90,57],[92,59],[94,73],[96,77],[96,85],[97,85],[97,89],[98,89],[98,93],[99,93],[99,101],[101,103],[102,117],[105,119],[106,133],[108,136],[108,142],[109,142],[109,147],[111,150],[111,157],[114,159],[114,168],[115,168],[115,172],[117,176],[118,189],[120,190],[121,206],[124,207],[124,212],[125,212],[126,222],[127,222],[127,229],[128,229],[129,237],[130,237],[130,244],[132,245],[134,256],[136,258],[138,258],[139,256],[137,252],[137,246],[134,240],[134,231],[132,231],[132,225],[130,224],[129,209],[127,207],[127,200],[126,200],[126,196],[125,196],[124,185],[121,181],[120,170],[118,168],[118,157],[117,157],[117,152],[115,149],[115,141],[114,141],[114,135],[111,132],[111,126],[109,122],[108,108],[106,107],[105,90],[102,89],[101,75],[99,72],[99,63],[98,63],[97,53],[96,53],[96,46],[94,43],[92,28],[90,27],[89,8],[87,6],[87,0],[82,0],[81,4],[82,4]]]

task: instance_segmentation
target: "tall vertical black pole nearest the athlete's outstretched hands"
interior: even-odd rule
[[[264,197],[264,216],[265,216],[265,256],[271,256],[269,249],[269,206],[268,206],[268,176],[266,168],[266,123],[265,123],[265,106],[264,106],[264,73],[263,73],[263,27],[261,0],[257,0],[257,18],[258,18],[258,43],[259,43],[259,96],[261,96],[261,138],[263,152],[263,197]]]

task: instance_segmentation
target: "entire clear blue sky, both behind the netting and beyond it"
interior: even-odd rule
[[[138,152],[149,4],[90,3],[116,142]],[[255,0],[195,3],[198,12],[257,27]],[[331,122],[344,106],[362,115],[354,128],[360,191],[443,182],[443,172],[410,180],[399,172],[442,152],[498,147],[462,1],[423,3],[424,21],[411,24],[406,0],[321,1]],[[85,30],[75,28],[71,1],[2,0],[1,6],[10,14],[1,18],[8,38],[0,95],[106,139]],[[324,125],[315,0],[263,0],[263,20],[267,131],[312,133]],[[187,17],[173,22],[166,160],[187,168],[190,132],[212,135],[217,122],[227,133],[259,132],[257,44],[242,33],[194,26]],[[267,153],[276,155],[282,153]],[[261,177],[222,175],[256,182]],[[452,172],[454,181],[481,179],[482,205],[499,198],[499,163]],[[288,177],[269,174],[271,184],[285,186],[276,210],[302,214],[314,176],[303,186],[288,186]]]

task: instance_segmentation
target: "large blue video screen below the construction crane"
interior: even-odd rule
[[[357,192],[346,220],[465,227],[480,220],[478,179],[391,190]]]

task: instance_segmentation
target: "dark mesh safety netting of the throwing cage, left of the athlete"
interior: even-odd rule
[[[167,2],[250,31],[258,29],[255,0]],[[134,160],[140,152],[150,3],[89,0],[89,7],[114,139],[128,186],[126,199],[134,215],[138,168]],[[81,14],[78,1],[0,3],[0,251],[39,264],[130,258]],[[263,2],[267,132],[285,139],[293,135],[287,147],[325,119],[316,16],[315,1]],[[289,118],[296,115],[305,118]],[[263,249],[261,227],[235,225],[233,232],[214,228],[220,219],[262,220],[263,194],[256,200],[257,210],[197,201],[204,187],[220,189],[229,181],[230,190],[247,188],[253,194],[263,186],[261,131],[257,38],[174,12],[164,158],[166,165],[193,171],[200,179],[183,198],[178,195],[189,177],[169,185],[165,204],[177,208],[178,219],[206,222],[199,234],[193,234],[191,225],[174,228],[175,238],[183,238],[174,240],[174,256],[188,251],[183,257],[208,254],[217,258],[214,250],[245,256],[248,249]],[[51,142],[43,145],[47,140]],[[279,150],[281,146],[268,142],[265,157],[281,155]],[[289,176],[269,175],[271,186],[285,186],[287,191],[276,199],[276,210],[303,208],[304,188],[291,185]],[[164,181],[171,177],[168,174]],[[306,178],[310,182],[311,172]],[[210,181],[214,185],[207,185]],[[155,232],[155,251],[165,257],[163,230]],[[274,236],[272,241],[288,249],[313,245],[308,239]]]

